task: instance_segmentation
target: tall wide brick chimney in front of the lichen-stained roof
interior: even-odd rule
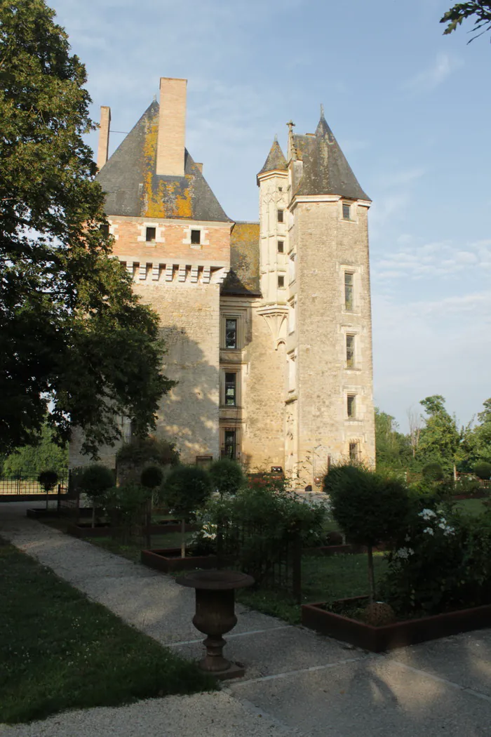
[[[187,83],[160,77],[157,174],[184,176]]]

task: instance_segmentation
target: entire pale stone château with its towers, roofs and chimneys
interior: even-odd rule
[[[259,223],[230,220],[188,153],[186,80],[162,77],[159,102],[107,158],[110,119],[102,107],[113,253],[158,312],[178,382],[157,434],[187,463],[280,466],[300,487],[317,486],[329,458],[372,464],[370,200],[323,114],[305,136],[289,123],[286,156],[275,138],[257,175]],[[80,441],[75,430],[71,467],[90,462]]]

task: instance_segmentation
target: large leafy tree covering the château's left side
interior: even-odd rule
[[[46,415],[92,453],[121,415],[144,434],[172,385],[158,318],[110,257],[85,82],[43,0],[0,0],[0,452]]]

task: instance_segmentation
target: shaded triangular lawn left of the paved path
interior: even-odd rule
[[[216,688],[197,666],[0,544],[0,723]]]

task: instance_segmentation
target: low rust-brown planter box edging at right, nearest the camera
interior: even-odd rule
[[[367,601],[366,596],[342,599],[347,603]],[[384,652],[406,645],[437,640],[459,632],[470,632],[491,626],[491,604],[473,609],[459,609],[420,619],[408,619],[383,627],[358,622],[356,619],[327,612],[323,604],[303,604],[302,624],[321,635],[343,640],[371,652]]]

